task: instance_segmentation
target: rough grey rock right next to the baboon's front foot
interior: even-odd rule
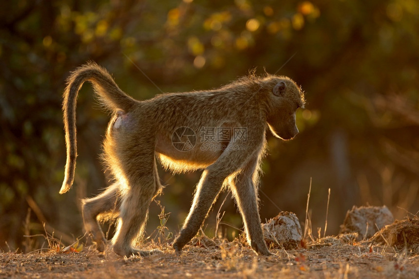
[[[262,230],[268,247],[284,247],[286,250],[301,247],[303,234],[300,221],[292,212],[280,212],[263,223]]]

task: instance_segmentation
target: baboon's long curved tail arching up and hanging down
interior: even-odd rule
[[[95,62],[88,62],[72,72],[67,79],[64,91],[62,109],[64,112],[65,142],[67,146],[67,161],[65,164],[64,182],[59,191],[63,194],[73,185],[76,170],[76,99],[80,87],[85,81],[93,85],[100,103],[110,111],[128,112],[137,102],[116,85],[112,76]]]

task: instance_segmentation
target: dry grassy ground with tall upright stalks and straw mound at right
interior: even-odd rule
[[[312,235],[307,199],[304,245],[274,247],[271,257],[257,256],[242,234],[232,242],[220,234],[215,238],[201,232],[185,246],[181,256],[171,248],[172,233],[166,227],[169,215],[161,206],[160,226],[141,245],[162,253],[141,258],[121,258],[110,245],[104,253],[95,245],[83,246],[87,238],[64,247],[45,228],[48,247],[30,253],[0,254],[0,278],[419,278],[419,218],[407,218],[385,226],[371,239],[357,241],[358,233]],[[330,197],[330,193],[329,193]],[[27,249],[34,247],[29,236],[28,212],[25,233]],[[221,223],[222,214],[217,214]],[[326,218],[327,222],[327,218]],[[326,230],[325,223],[324,230]]]

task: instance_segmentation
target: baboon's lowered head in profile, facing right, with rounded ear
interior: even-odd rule
[[[292,139],[298,134],[295,113],[304,108],[304,93],[286,76],[268,76],[264,81],[269,129],[279,138]]]

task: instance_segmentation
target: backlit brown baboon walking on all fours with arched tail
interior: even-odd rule
[[[188,217],[173,242],[176,254],[196,235],[222,188],[229,187],[248,243],[259,255],[271,255],[258,211],[259,166],[268,127],[284,140],[298,133],[295,114],[305,99],[294,81],[286,76],[249,74],[214,90],[164,93],[138,101],[120,90],[105,69],[88,62],[70,74],[64,92],[67,161],[61,194],[73,184],[76,98],[85,81],[92,83],[100,103],[112,112],[103,159],[114,184],[82,201],[84,225],[98,251],[105,250],[106,240],[97,219],[110,214],[118,218],[112,239],[116,254],[154,252],[137,250],[133,243],[142,236],[149,205],[162,189],[158,159],[173,172],[204,169]]]

